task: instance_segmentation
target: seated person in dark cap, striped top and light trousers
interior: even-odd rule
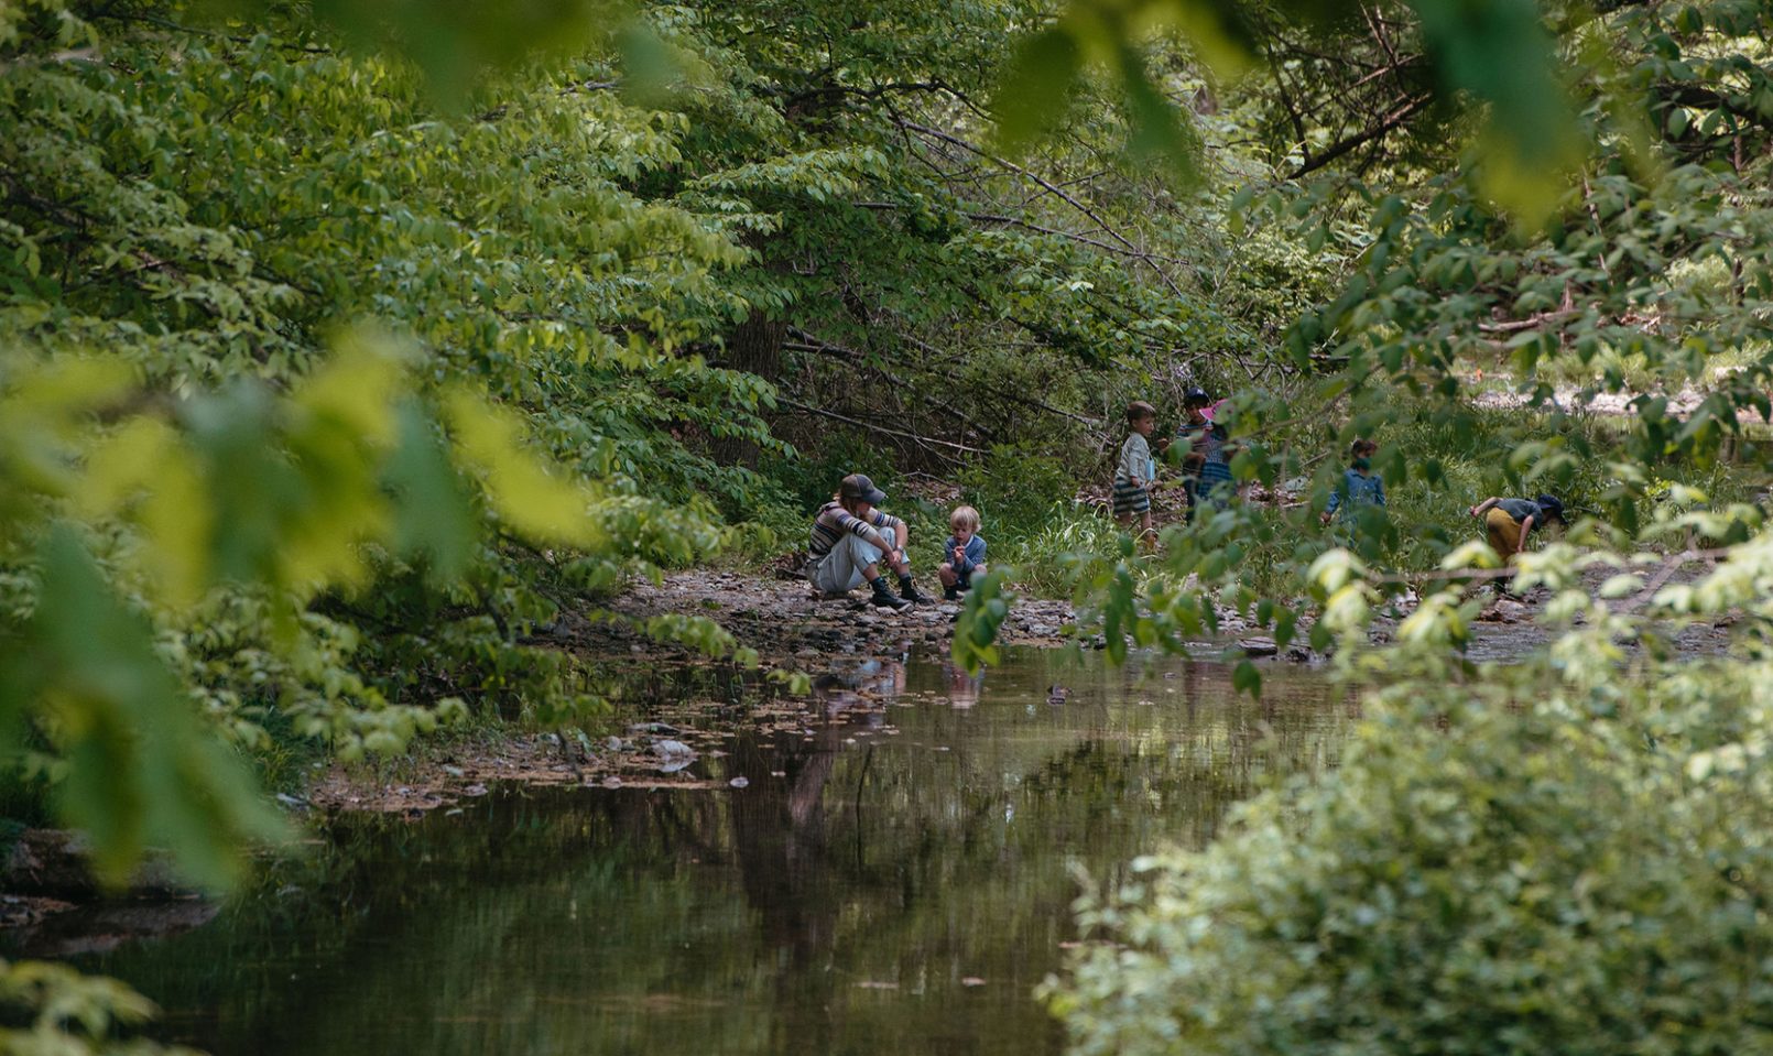
[[[867,579],[874,604],[902,610],[918,601],[929,601],[911,583],[911,558],[904,547],[911,544],[904,521],[879,510],[886,493],[862,473],[844,477],[832,501],[812,519],[812,542],[807,547],[807,579],[826,597],[849,594]],[[885,563],[899,574],[899,594],[894,595],[881,576]]]

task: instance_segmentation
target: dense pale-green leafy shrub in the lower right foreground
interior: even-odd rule
[[[1085,898],[1124,946],[1050,983],[1073,1051],[1766,1051],[1766,679],[1578,680],[1415,682],[1324,785]]]

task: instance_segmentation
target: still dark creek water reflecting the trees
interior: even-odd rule
[[[1310,672],[1269,668],[1261,705],[1229,679],[846,672],[697,764],[745,788],[339,822],[207,925],[80,966],[218,1056],[1057,1052],[1030,992],[1074,937],[1073,865],[1199,845],[1264,771],[1333,764],[1347,707]]]

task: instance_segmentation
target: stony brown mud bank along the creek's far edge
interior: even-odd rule
[[[1702,565],[1675,572],[1670,581],[1699,576]],[[1599,590],[1606,569],[1585,576]],[[1472,624],[1466,656],[1480,663],[1507,663],[1551,640],[1535,620],[1550,599],[1539,588],[1525,597],[1500,597],[1484,588],[1484,606]],[[1619,602],[1626,604],[1628,602]],[[608,730],[558,734],[507,734],[452,744],[397,771],[335,765],[294,806],[319,811],[379,811],[411,817],[434,810],[457,810],[465,801],[488,794],[500,781],[528,787],[605,788],[704,788],[736,792],[748,774],[725,774],[723,758],[736,728],[800,732],[826,725],[842,712],[883,716],[899,698],[906,657],[941,664],[949,691],[943,703],[968,707],[977,696],[977,679],[947,664],[959,606],[952,602],[913,606],[902,611],[874,610],[853,599],[816,601],[805,581],[771,579],[739,572],[688,571],[660,585],[638,585],[613,602],[628,622],[566,618],[551,640],[621,672],[652,679],[647,696],[629,696],[624,716]],[[1392,640],[1397,625],[1415,610],[1413,595],[1394,599],[1372,624],[1372,641]],[[741,689],[697,684],[695,675],[723,670],[709,666],[686,647],[660,643],[645,633],[647,620],[661,617],[707,617],[755,648],[764,668],[805,673],[814,686],[808,698],[787,696],[780,684],[752,673],[727,672],[743,680]],[[1298,636],[1278,647],[1268,631],[1230,610],[1218,611],[1220,636],[1188,643],[1204,661],[1254,659],[1264,666],[1316,666],[1326,657],[1305,645],[1312,613],[1300,613]],[[1684,654],[1718,654],[1729,645],[1729,622],[1699,622],[1661,629],[1672,648]],[[1076,643],[1099,645],[1096,627],[1078,624],[1078,615],[1060,601],[1018,601],[1000,638],[1007,647],[1051,648]],[[897,675],[895,675],[897,672]],[[743,700],[736,700],[743,696]],[[1060,695],[1062,698],[1062,695]],[[645,714],[647,719],[635,721]],[[847,721],[847,719],[846,719]],[[885,734],[885,735],[890,735]],[[722,776],[725,774],[725,776]],[[734,783],[736,780],[736,783]]]

